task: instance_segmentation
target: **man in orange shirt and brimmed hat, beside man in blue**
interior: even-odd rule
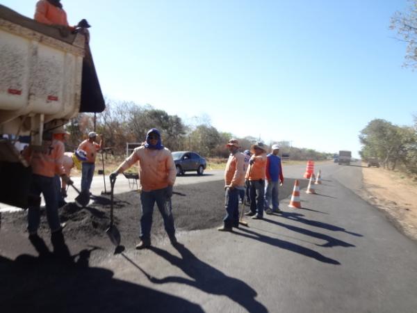
[[[268,147],[261,142],[251,147],[252,157],[247,168],[246,179],[249,179],[250,211],[245,214],[254,219],[263,218],[263,207],[265,201],[265,170],[266,153]]]

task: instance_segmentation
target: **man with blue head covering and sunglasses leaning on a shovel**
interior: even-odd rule
[[[172,216],[171,197],[172,186],[177,177],[174,159],[170,150],[162,145],[161,134],[153,128],[147,132],[145,145],[137,147],[133,153],[120,166],[111,173],[111,182],[117,175],[127,170],[136,162],[139,163],[139,177],[142,192],[142,217],[140,218],[140,243],[136,249],[151,246],[151,227],[154,205],[158,206],[163,218],[165,232],[172,245],[177,244],[175,238],[174,217]]]

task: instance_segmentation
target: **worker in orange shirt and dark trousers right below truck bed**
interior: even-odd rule
[[[47,134],[47,133],[44,133]],[[50,134],[51,135],[51,134]],[[30,187],[31,203],[28,207],[28,233],[29,239],[36,248],[40,241],[38,228],[40,225],[40,194],[44,196],[47,212],[47,221],[51,229],[51,242],[54,252],[62,257],[70,257],[58,216],[58,201],[56,198],[54,176],[58,172],[67,184],[72,180],[65,175],[63,156],[65,147],[61,141],[44,140],[41,149],[29,146],[23,152],[26,161],[31,165],[33,175]]]

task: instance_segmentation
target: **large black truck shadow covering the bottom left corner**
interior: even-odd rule
[[[89,267],[91,250],[76,262],[20,255],[0,256],[0,303],[11,312],[204,312],[190,301],[113,278]]]

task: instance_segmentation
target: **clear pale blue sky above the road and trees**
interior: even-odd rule
[[[3,5],[33,16],[35,1]],[[374,118],[411,125],[417,73],[390,18],[406,0],[62,1],[86,18],[104,94],[236,136],[360,150]]]

